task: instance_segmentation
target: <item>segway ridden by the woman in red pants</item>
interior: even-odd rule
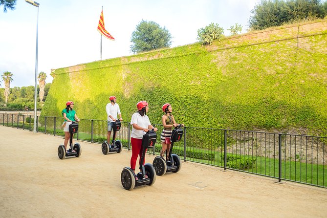
[[[145,152],[148,148],[154,148],[155,141],[157,139],[157,134],[155,131],[148,131],[143,135],[142,138],[142,156],[140,163],[143,163],[145,158]],[[135,186],[141,185],[153,185],[156,179],[155,170],[150,163],[142,164],[140,166],[141,172],[139,172],[137,176],[137,180],[135,179],[135,173],[130,167],[125,167],[120,175],[122,185],[126,190],[132,190]],[[145,177],[148,176],[148,178]]]

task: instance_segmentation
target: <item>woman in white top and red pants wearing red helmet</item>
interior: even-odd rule
[[[140,156],[141,161],[141,155],[142,155],[142,137],[143,135],[149,131],[154,129],[154,131],[157,131],[157,128],[154,128],[149,120],[149,117],[147,116],[147,112],[149,110],[148,102],[146,101],[140,101],[136,105],[138,111],[135,112],[131,116],[131,125],[132,125],[132,131],[131,131],[131,169],[135,173],[135,165],[137,156]],[[145,158],[144,158],[145,162]],[[144,164],[139,163],[140,165]],[[147,176],[147,175],[145,175]],[[137,176],[135,177],[137,180]]]

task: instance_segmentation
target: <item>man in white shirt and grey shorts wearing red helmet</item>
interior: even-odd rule
[[[110,103],[108,103],[106,106],[106,111],[107,111],[107,115],[108,115],[108,132],[107,132],[108,144],[110,144],[110,135],[111,135],[113,123],[116,122],[116,120],[118,119],[118,116],[119,116],[119,120],[123,121],[122,114],[119,109],[119,105],[116,103],[116,101],[117,101],[116,97],[110,96],[109,100],[110,100]],[[117,132],[116,132],[116,134],[117,134]]]

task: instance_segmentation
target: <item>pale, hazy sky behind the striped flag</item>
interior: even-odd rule
[[[116,39],[102,39],[102,60],[131,55],[131,34],[142,21],[154,21],[173,36],[171,47],[193,44],[197,29],[218,23],[224,34],[239,23],[248,28],[260,0],[36,0],[39,7],[38,72],[52,81],[51,69],[100,60],[97,25],[103,6],[105,27]],[[11,87],[34,86],[37,8],[17,0],[0,7],[0,73],[11,71]],[[4,87],[1,81],[1,87]]]

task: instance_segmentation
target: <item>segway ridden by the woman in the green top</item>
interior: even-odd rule
[[[72,156],[79,157],[81,156],[82,153],[82,148],[79,143],[75,143],[73,146],[73,134],[78,131],[78,123],[72,122],[72,124],[69,125],[68,130],[70,133],[70,138],[69,138],[70,151],[66,151],[65,146],[60,145],[58,147],[58,156],[60,159],[64,159],[65,157],[72,157]],[[71,152],[71,151],[75,151],[75,152]]]

